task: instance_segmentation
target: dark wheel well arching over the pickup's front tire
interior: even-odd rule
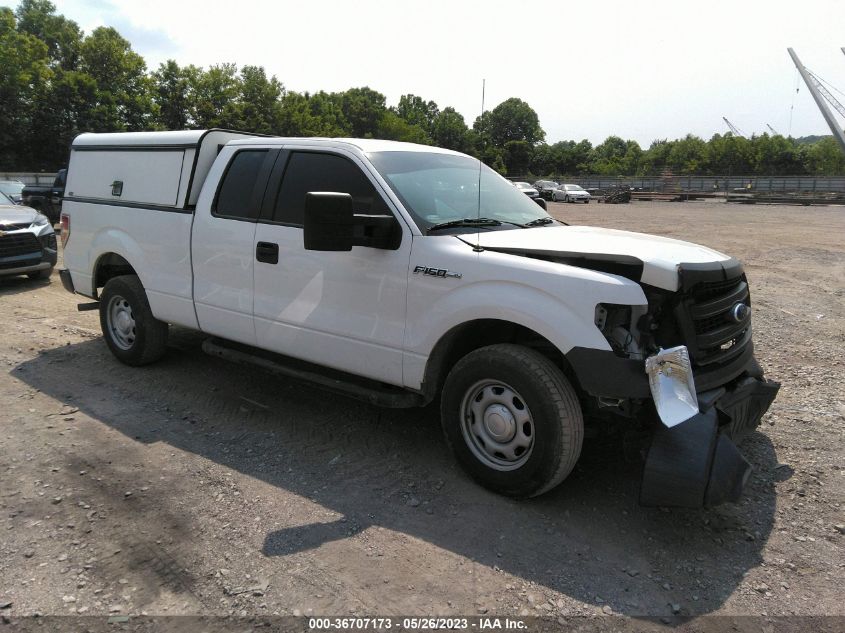
[[[547,338],[510,321],[477,319],[453,327],[434,346],[423,381],[422,390],[426,401],[430,402],[440,392],[446,375],[461,358],[479,348],[497,343],[524,345],[540,352],[563,371],[573,387],[578,388],[578,381],[563,352]]]

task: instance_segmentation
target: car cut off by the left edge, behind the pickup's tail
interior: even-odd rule
[[[47,216],[0,193],[0,277],[49,279],[57,258],[56,232]]]

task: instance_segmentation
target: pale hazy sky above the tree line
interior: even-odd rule
[[[842,0],[53,2],[86,33],[115,27],[151,69],[264,66],[288,90],[413,93],[470,126],[484,80],[485,109],[519,97],[549,143],[708,139],[723,116],[746,135],[829,134],[788,46],[845,93]]]

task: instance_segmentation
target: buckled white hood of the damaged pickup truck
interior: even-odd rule
[[[679,286],[680,264],[732,261],[691,242],[590,226],[491,231],[480,233],[478,242],[487,250],[621,275],[673,292]]]

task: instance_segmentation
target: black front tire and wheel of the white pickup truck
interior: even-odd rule
[[[510,408],[496,396],[509,398],[517,413],[527,412],[530,420],[530,433],[518,420],[515,433],[521,428],[523,438],[530,435],[531,446],[510,461],[503,453],[494,454],[504,445],[494,444],[490,436],[488,420],[503,420],[498,411]],[[493,400],[484,405],[488,397]],[[484,420],[468,411],[475,405],[487,407]],[[463,469],[484,487],[511,497],[551,490],[572,472],[581,454],[584,420],[575,390],[548,358],[520,345],[490,345],[462,358],[446,378],[440,416],[446,441]],[[513,430],[507,430],[507,423],[506,430],[497,428],[500,433]]]

